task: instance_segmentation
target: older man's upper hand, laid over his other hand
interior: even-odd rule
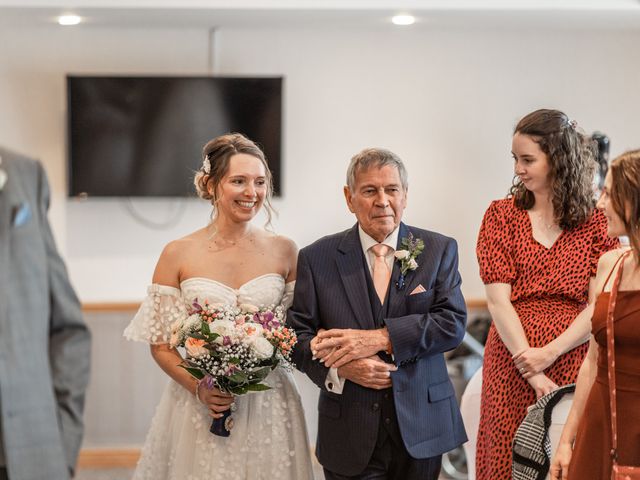
[[[333,328],[319,331],[311,348],[313,356],[327,367],[340,368],[360,358],[367,358],[390,347],[386,328],[376,330],[354,330]]]

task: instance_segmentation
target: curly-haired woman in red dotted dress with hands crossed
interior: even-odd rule
[[[478,236],[493,323],[485,347],[478,480],[511,478],[511,442],[536,398],[573,383],[590,331],[583,312],[600,255],[617,246],[594,209],[590,141],[557,110],[516,126],[510,195],[491,203]]]

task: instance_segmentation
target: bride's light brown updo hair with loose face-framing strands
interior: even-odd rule
[[[240,133],[221,135],[210,140],[204,146],[202,149],[202,166],[193,179],[196,193],[200,198],[211,202],[211,205],[213,205],[211,217],[212,220],[215,220],[217,215],[216,205],[219,200],[218,186],[229,171],[231,157],[239,153],[257,158],[264,166],[267,193],[264,197],[263,206],[267,212],[267,225],[270,225],[275,213],[271,206],[271,198],[273,196],[271,170],[269,170],[269,165],[260,147]]]

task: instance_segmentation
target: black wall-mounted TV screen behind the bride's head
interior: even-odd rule
[[[262,147],[280,191],[282,78],[68,76],[69,195],[192,196],[210,139]]]

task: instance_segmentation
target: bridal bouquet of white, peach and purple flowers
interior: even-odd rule
[[[191,305],[189,316],[171,326],[171,346],[184,347],[182,367],[206,386],[233,395],[269,390],[263,383],[278,366],[292,368],[296,334],[284,325],[282,305],[257,307],[207,301]],[[229,436],[230,410],[214,419],[211,432]]]

